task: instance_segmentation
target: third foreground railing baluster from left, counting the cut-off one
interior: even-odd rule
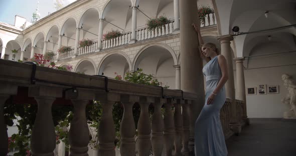
[[[88,155],[89,129],[86,121],[85,107],[89,100],[72,99],[74,115],[70,124],[69,144],[71,155]]]

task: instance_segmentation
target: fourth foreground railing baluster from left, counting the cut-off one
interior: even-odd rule
[[[103,108],[98,131],[98,155],[115,156],[115,126],[112,108],[115,102],[120,101],[120,95],[115,93],[99,93],[96,95],[96,98],[100,101]]]

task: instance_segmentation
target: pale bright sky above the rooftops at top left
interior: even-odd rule
[[[33,12],[37,8],[38,0],[0,0],[0,21],[14,25],[15,15],[25,17],[31,22]],[[76,0],[63,0],[64,6]],[[54,3],[56,0],[39,0],[39,12],[41,18],[48,15],[48,12],[55,12]]]

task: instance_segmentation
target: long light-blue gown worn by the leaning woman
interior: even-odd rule
[[[206,76],[206,100],[195,122],[195,155],[226,156],[227,148],[220,122],[220,109],[226,100],[225,87],[217,92],[212,104],[207,104],[208,97],[222,76],[218,56],[204,66],[203,73]]]

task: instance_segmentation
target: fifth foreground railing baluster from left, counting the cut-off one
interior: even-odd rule
[[[139,96],[121,95],[120,100],[124,108],[120,124],[120,155],[135,155],[135,125],[132,115],[132,105],[139,101]]]

